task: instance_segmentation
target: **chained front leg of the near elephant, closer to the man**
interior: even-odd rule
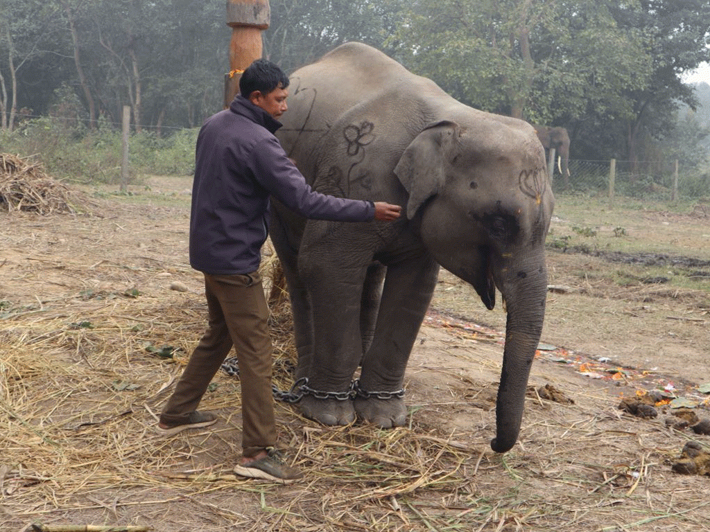
[[[347,425],[355,421],[348,392],[362,358],[361,297],[370,260],[363,263],[326,245],[312,255],[302,254],[299,263],[312,301],[314,333],[307,375],[312,392],[302,397],[299,407],[305,417],[324,425]],[[324,394],[330,397],[322,398]]]

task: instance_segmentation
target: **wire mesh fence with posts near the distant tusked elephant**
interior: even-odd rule
[[[555,167],[552,189],[556,196],[577,194],[625,201],[700,201],[710,196],[710,172],[684,167],[681,162],[570,160],[569,176]]]

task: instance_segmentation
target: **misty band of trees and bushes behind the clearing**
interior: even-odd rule
[[[361,40],[465,104],[564,126],[578,189],[603,188],[612,157],[631,189],[667,187],[677,159],[682,192],[703,195],[710,86],[682,77],[708,60],[709,31],[707,0],[271,0],[263,43],[290,72]],[[224,0],[2,2],[0,149],[113,179],[129,105],[137,170],[189,173],[230,32]]]

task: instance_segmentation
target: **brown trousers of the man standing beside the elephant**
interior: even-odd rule
[[[261,276],[258,272],[204,274],[204,293],[209,311],[207,331],[192,352],[160,421],[169,425],[187,421],[234,345],[241,384],[241,446],[245,456],[253,456],[276,445],[272,347]]]

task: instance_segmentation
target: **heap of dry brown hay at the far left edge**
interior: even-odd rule
[[[42,165],[0,153],[0,207],[37,214],[87,211],[87,199],[45,174]]]

